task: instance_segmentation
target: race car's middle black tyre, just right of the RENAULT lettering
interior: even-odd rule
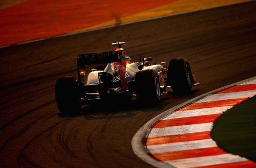
[[[154,69],[138,71],[135,75],[136,97],[139,101],[159,103],[160,83]]]

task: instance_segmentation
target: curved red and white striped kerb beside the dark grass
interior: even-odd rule
[[[224,111],[255,94],[256,79],[177,109],[151,126],[145,147],[153,158],[175,167],[256,167],[255,162],[220,149],[210,136]]]

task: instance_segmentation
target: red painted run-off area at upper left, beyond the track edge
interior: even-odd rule
[[[0,10],[0,46],[70,33],[178,0],[29,0]]]

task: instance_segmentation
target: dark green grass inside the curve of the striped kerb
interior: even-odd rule
[[[228,153],[256,161],[256,96],[217,119],[211,137]]]

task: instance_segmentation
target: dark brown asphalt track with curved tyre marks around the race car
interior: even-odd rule
[[[256,75],[255,9],[253,1],[0,49],[0,167],[153,167],[131,147],[141,126],[184,101]],[[77,76],[79,53],[112,50],[117,41],[127,41],[126,54],[135,61],[139,54],[156,63],[185,57],[201,85],[188,95],[171,92],[157,107],[113,100],[106,108],[59,115],[56,79]]]

